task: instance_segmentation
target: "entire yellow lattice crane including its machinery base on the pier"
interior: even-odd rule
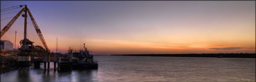
[[[23,7],[22,10],[20,10],[19,13],[17,13],[16,16],[14,16],[13,19],[11,19],[11,21],[2,29],[2,31],[0,32],[0,38],[8,31],[8,29],[11,28],[11,26],[17,20],[17,18],[24,12],[24,14],[22,14],[22,17],[24,17],[24,36],[23,36],[24,38],[23,38],[23,40],[21,40],[19,42],[21,47],[19,48],[19,53],[17,54],[18,65],[20,67],[28,67],[30,65],[30,61],[31,61],[31,53],[36,51],[36,52],[42,53],[43,58],[39,59],[42,61],[39,61],[39,63],[35,63],[35,64],[40,65],[40,62],[44,62],[46,65],[46,62],[48,62],[48,68],[49,68],[49,62],[51,62],[51,60],[52,60],[52,62],[56,63],[57,56],[51,56],[51,55],[55,55],[55,54],[50,53],[50,50],[45,42],[45,39],[43,38],[43,34],[40,31],[39,26],[37,25],[36,20],[34,19],[33,15],[31,14],[31,11],[27,7],[27,5],[20,5],[19,7]],[[39,35],[39,38],[42,41],[45,49],[42,49],[42,47],[40,47],[38,45],[35,46],[33,44],[34,43],[33,41],[28,40],[28,38],[27,38],[27,17],[28,16],[30,16],[33,26],[36,29],[37,35]],[[51,57],[52,57],[52,59],[51,59]]]

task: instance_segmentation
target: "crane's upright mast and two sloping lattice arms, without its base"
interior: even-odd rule
[[[23,7],[23,5],[20,5],[20,7]],[[39,26],[36,23],[36,20],[34,20],[34,17],[32,16],[30,9],[28,9],[27,5],[25,5],[24,8],[22,8],[22,10],[19,11],[19,13],[16,14],[16,16],[13,17],[13,19],[11,19],[11,21],[2,29],[2,31],[0,32],[0,38],[2,38],[2,36],[8,31],[8,29],[11,28],[11,25],[13,25],[13,23],[17,20],[17,18],[20,16],[20,14],[22,14],[22,12],[25,12],[25,25],[24,25],[24,40],[27,39],[27,12],[30,15],[31,21],[34,25],[34,28],[36,29],[37,35],[39,36],[40,40],[43,43],[43,46],[45,47],[46,51],[48,51],[48,53],[50,52],[45,39],[43,38],[43,34],[39,29]],[[23,16],[23,15],[22,15]]]

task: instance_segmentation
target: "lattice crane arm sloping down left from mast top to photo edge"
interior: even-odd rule
[[[25,8],[22,8],[22,10],[20,10],[19,13],[17,13],[16,16],[14,16],[13,19],[11,19],[11,21],[2,29],[0,33],[0,38],[2,38],[2,36],[8,31],[8,29],[11,28],[11,25],[13,25],[13,23],[17,20],[17,18],[20,16],[20,14],[22,14],[24,10]]]

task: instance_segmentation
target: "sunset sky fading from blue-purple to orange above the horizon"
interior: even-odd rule
[[[84,42],[93,54],[255,53],[255,1],[1,1],[15,5],[28,5],[53,52],[58,37],[61,53]],[[1,29],[19,10],[1,12]],[[1,40],[17,31],[17,48],[23,23]],[[43,46],[30,17],[28,38]]]

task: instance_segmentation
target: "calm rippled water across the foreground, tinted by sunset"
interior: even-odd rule
[[[255,81],[255,59],[207,57],[95,56],[99,68],[41,69],[1,74],[1,81]],[[242,80],[243,79],[243,80]]]

